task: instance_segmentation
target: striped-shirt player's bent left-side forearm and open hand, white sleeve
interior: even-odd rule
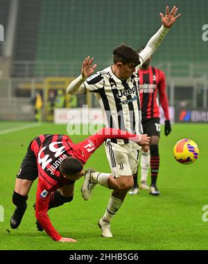
[[[92,75],[97,66],[96,64],[92,66],[93,60],[94,58],[90,58],[89,56],[85,58],[83,61],[82,73],[69,84],[67,87],[67,94],[72,95],[85,92],[85,85],[83,83]]]

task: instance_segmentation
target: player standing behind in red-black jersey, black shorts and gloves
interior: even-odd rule
[[[137,52],[140,53],[143,49],[138,49]],[[150,136],[150,145],[141,149],[141,183],[139,184],[139,188],[149,189],[146,179],[148,169],[151,167],[150,195],[159,195],[159,190],[156,185],[159,171],[158,144],[160,134],[158,97],[166,119],[164,127],[165,135],[171,133],[171,121],[168,112],[165,74],[162,70],[151,67],[150,61],[151,57],[143,63],[138,72],[141,123],[144,133]],[[134,188],[129,192],[130,194],[137,194],[138,192],[137,173],[135,174],[134,182]]]

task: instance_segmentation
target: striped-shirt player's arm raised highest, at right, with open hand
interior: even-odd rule
[[[164,39],[166,33],[168,33],[169,28],[173,26],[175,23],[175,20],[181,16],[181,14],[177,14],[177,7],[174,6],[171,10],[171,13],[169,13],[169,8],[166,6],[166,15],[164,16],[162,13],[159,13],[161,20],[162,20],[162,26],[159,28],[159,31],[153,35],[152,38],[148,41],[146,44],[146,47],[139,53],[139,57],[141,58],[141,65],[156,51],[156,49],[161,44],[162,40]]]

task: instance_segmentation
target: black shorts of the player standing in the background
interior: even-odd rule
[[[144,121],[142,121],[141,123],[143,126],[144,134],[148,134],[148,136],[157,135],[159,137],[160,134],[159,118],[144,119]]]

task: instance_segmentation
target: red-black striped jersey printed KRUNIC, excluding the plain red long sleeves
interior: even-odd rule
[[[56,190],[67,183],[60,173],[60,163],[64,158],[73,156],[83,164],[95,151],[94,142],[84,140],[83,145],[73,144],[67,135],[39,135],[31,143],[31,150],[37,158],[37,169],[40,180],[44,181],[47,190]],[[91,144],[91,149],[86,148]],[[88,151],[90,150],[90,151]]]

